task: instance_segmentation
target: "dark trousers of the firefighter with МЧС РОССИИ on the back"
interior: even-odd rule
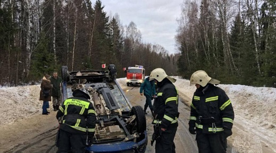
[[[59,129],[57,153],[85,153],[86,134],[72,134]]]

